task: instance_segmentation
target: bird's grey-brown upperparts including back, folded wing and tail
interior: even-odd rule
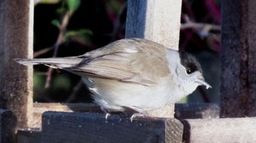
[[[146,39],[122,39],[77,57],[17,59],[21,64],[45,64],[80,76],[96,76],[153,86],[168,76],[166,48]]]

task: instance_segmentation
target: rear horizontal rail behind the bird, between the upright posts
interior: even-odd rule
[[[41,128],[41,114],[44,111],[90,112],[102,113],[97,104],[34,103],[34,127]],[[175,117],[185,118],[219,118],[217,104],[175,104]]]

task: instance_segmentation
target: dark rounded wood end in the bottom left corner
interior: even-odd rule
[[[11,111],[0,109],[0,143],[15,142],[16,118]]]

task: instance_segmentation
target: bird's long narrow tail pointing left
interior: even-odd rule
[[[82,62],[81,58],[78,57],[50,57],[44,59],[15,59],[16,62],[24,65],[44,64],[49,67],[63,69],[74,67],[75,65]]]

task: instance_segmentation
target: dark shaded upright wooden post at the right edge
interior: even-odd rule
[[[221,5],[221,116],[256,116],[256,1]]]

